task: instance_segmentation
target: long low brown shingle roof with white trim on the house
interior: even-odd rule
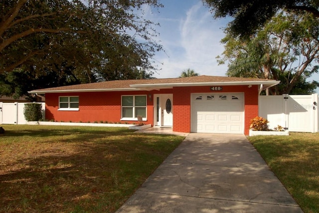
[[[192,76],[184,78],[158,78],[158,79],[142,79],[142,80],[114,80],[114,81],[104,81],[97,83],[88,84],[77,84],[71,86],[60,86],[53,88],[37,89],[32,90],[29,93],[48,93],[48,92],[76,92],[76,91],[103,91],[103,90],[141,90],[138,88],[142,87],[154,87],[155,85],[161,85],[165,87],[172,87],[173,85],[191,86],[191,84],[201,84],[201,83],[238,83],[242,85],[248,85],[250,83],[269,82],[271,84],[277,82],[275,80],[266,80],[259,78],[238,78],[238,77],[223,77],[223,76]],[[279,83],[279,82],[278,82]],[[277,84],[277,83],[276,83]]]

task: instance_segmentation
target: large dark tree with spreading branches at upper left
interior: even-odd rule
[[[62,72],[75,82],[126,79],[155,69],[161,50],[143,5],[157,0],[2,0],[0,73]]]

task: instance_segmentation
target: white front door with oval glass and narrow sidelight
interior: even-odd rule
[[[154,119],[155,126],[171,127],[173,126],[173,95],[159,94],[154,99]]]

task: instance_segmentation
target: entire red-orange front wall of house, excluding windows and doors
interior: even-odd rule
[[[258,86],[223,86],[218,92],[245,93],[245,127],[244,134],[249,134],[250,120],[258,115]],[[190,132],[190,94],[213,93],[210,86],[174,87],[160,91],[130,91],[130,92],[80,92],[80,93],[47,93],[47,120],[64,122],[122,122],[137,123],[137,121],[121,121],[122,95],[147,95],[147,121],[154,125],[154,94],[173,94],[173,131]],[[151,98],[149,97],[151,95]],[[79,96],[79,111],[58,111],[59,96]]]

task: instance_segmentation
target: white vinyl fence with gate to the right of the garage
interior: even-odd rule
[[[318,94],[259,96],[259,116],[269,127],[290,132],[319,132]]]

